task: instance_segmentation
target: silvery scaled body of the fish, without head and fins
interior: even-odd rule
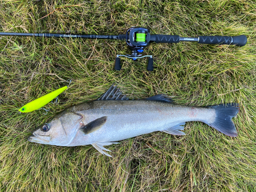
[[[82,105],[86,105],[86,103]],[[78,108],[86,109],[87,106],[78,106]],[[83,124],[102,116],[108,116],[106,123],[91,135],[83,135],[78,132],[69,146],[92,144],[96,141],[119,141],[167,130],[186,121],[208,122],[215,118],[215,111],[210,108],[150,100],[94,101],[94,108],[74,112],[84,116]]]

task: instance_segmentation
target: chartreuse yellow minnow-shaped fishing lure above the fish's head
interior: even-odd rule
[[[65,91],[68,87],[65,86],[63,88],[60,88],[56,91],[53,91],[45,96],[39,97],[36,100],[33,100],[29,102],[28,104],[24,105],[22,108],[20,108],[18,111],[22,113],[28,113],[34,110],[40,109],[42,106],[46,105],[49,103],[51,100],[53,100],[55,97],[57,97],[60,93]]]

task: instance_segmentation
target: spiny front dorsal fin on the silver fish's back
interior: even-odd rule
[[[119,88],[117,89],[117,86],[114,86],[114,84],[112,84],[110,89],[108,91],[106,91],[97,100],[98,101],[99,100],[129,100],[129,98],[126,97],[125,95],[123,95],[122,92],[119,90]]]

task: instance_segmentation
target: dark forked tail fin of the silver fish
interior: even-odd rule
[[[207,123],[209,126],[214,127],[216,130],[218,130],[221,133],[224,133],[227,136],[238,136],[236,127],[234,126],[234,123],[231,120],[239,112],[238,103],[218,104],[207,107],[215,109],[216,111],[215,121],[212,123]]]

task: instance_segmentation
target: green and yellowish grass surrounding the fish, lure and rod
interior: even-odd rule
[[[93,39],[0,37],[0,191],[256,191],[255,1],[0,1],[0,31],[120,34],[132,26],[152,34],[241,35],[244,47],[193,42],[152,44],[147,59],[122,59],[125,42]],[[44,110],[18,109],[68,83]],[[231,138],[201,122],[185,136],[151,133],[108,147],[30,143],[35,126],[69,106],[94,100],[112,83],[131,98],[166,93],[175,102],[238,102]]]

